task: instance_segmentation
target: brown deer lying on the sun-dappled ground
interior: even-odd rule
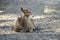
[[[14,30],[16,32],[33,32],[35,24],[31,12],[23,7],[21,7],[21,11],[23,12],[23,15],[14,21]]]

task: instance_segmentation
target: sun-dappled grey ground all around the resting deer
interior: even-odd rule
[[[60,0],[1,0],[0,5],[0,40],[60,40]],[[34,16],[32,33],[13,30],[21,6],[30,8]]]

